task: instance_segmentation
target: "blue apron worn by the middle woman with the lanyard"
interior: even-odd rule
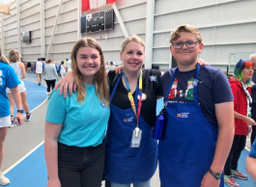
[[[110,96],[110,102],[124,72],[119,76]],[[135,93],[137,108],[138,86]],[[122,102],[122,100],[120,100]],[[157,143],[152,138],[153,129],[140,115],[139,128],[142,130],[140,147],[130,147],[132,131],[136,127],[132,108],[120,109],[110,105],[110,118],[106,133],[106,175],[105,178],[119,184],[140,183],[149,180],[156,172]]]

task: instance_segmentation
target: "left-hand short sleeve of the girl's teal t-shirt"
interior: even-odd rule
[[[64,123],[67,115],[66,99],[59,94],[60,90],[53,91],[49,96],[49,103],[45,120],[52,123]]]

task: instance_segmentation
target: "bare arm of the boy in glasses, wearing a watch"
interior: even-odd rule
[[[234,139],[233,101],[215,104],[215,114],[219,128],[211,170],[214,173],[222,173]],[[202,180],[202,187],[218,187],[219,181],[207,173]]]

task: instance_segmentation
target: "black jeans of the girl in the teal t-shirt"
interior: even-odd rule
[[[98,147],[69,147],[58,143],[61,186],[100,187],[104,159],[104,144]]]

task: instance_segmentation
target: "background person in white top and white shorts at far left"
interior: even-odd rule
[[[17,75],[18,80],[20,81],[20,84],[18,85],[18,90],[20,92],[21,100],[22,100],[22,105],[24,108],[24,111],[26,113],[26,120],[31,120],[32,114],[29,112],[29,105],[27,103],[27,93],[26,93],[26,88],[24,85],[24,82],[22,79],[26,78],[26,71],[24,64],[19,62],[20,61],[20,54],[18,50],[12,49],[9,51],[9,60],[11,62],[11,67],[14,68],[14,72]],[[13,119],[14,116],[14,95],[12,94],[11,89],[7,88],[6,93],[8,94],[9,97],[9,102],[10,102],[10,110],[11,110],[11,120],[12,124],[9,126],[12,128],[16,123]]]

